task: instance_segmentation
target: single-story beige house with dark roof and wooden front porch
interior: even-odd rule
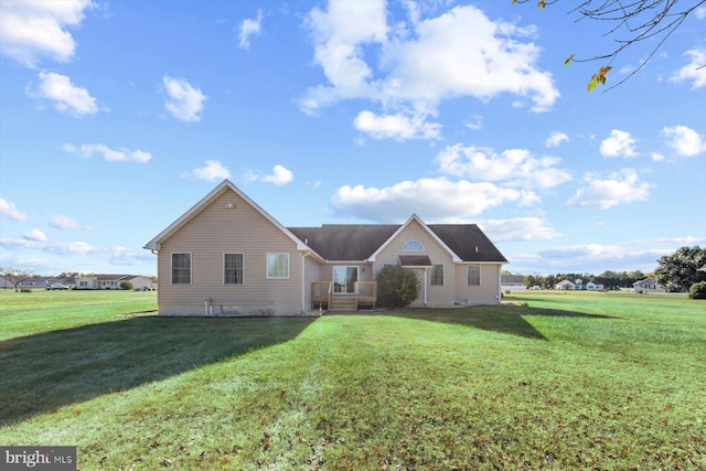
[[[474,224],[285,227],[224,180],[145,248],[162,315],[299,314],[374,306],[388,264],[414,270],[413,306],[500,303],[507,260]]]

